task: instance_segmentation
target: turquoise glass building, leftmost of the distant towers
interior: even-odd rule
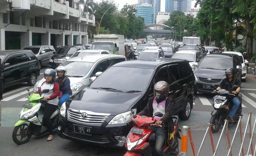
[[[154,22],[154,7],[152,4],[142,3],[138,4],[136,7],[136,14],[137,17],[143,17],[145,24],[152,24]]]

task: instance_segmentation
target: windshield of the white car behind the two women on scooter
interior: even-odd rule
[[[67,68],[67,77],[84,77],[93,64],[93,62],[65,61],[61,66]]]

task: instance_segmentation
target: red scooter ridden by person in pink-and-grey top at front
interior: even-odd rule
[[[155,113],[155,116],[162,117],[163,114],[160,112]],[[172,116],[174,126],[174,142],[172,145],[168,143],[168,126],[163,126],[166,134],[165,145],[163,146],[163,151],[166,155],[177,156],[179,153],[178,150],[178,138],[181,139],[180,134],[178,133],[178,117]],[[124,156],[149,156],[154,150],[155,147],[155,133],[152,133],[152,129],[148,127],[156,127],[155,124],[157,120],[154,117],[146,117],[135,115],[132,118],[132,122],[135,124],[133,128],[128,133],[127,139],[125,141],[125,148],[128,150]]]

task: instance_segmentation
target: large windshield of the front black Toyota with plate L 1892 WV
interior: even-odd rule
[[[154,69],[112,66],[97,77],[90,88],[114,88],[124,92],[145,91],[153,72]]]

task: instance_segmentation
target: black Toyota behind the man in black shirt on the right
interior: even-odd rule
[[[196,77],[196,92],[211,93],[224,79],[227,68],[234,69],[234,77],[241,82],[242,66],[236,54],[209,54],[203,58],[194,71]]]

